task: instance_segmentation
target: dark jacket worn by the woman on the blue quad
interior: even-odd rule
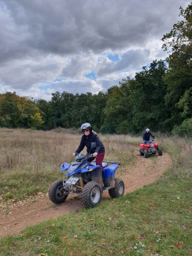
[[[96,148],[91,149],[91,143],[96,142]],[[82,135],[81,142],[79,144],[79,147],[76,150],[76,153],[80,153],[84,146],[87,147],[87,153],[93,154],[93,153],[101,153],[105,152],[104,145],[102,144],[101,140],[99,139],[99,136],[95,134],[94,132],[91,132],[88,136]]]

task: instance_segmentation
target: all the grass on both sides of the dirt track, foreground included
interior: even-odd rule
[[[0,129],[0,195],[26,198],[62,177],[58,166],[71,161],[79,134]],[[173,165],[154,184],[122,198],[82,209],[0,239],[2,256],[188,256],[191,255],[191,141],[162,136],[158,141]],[[134,161],[130,143],[141,138],[100,136],[105,160]],[[122,167],[122,168],[123,168]],[[121,170],[120,170],[121,171]],[[10,193],[9,193],[10,192]]]

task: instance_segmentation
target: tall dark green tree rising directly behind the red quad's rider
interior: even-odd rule
[[[149,68],[136,73],[132,83],[130,103],[132,106],[133,128],[136,132],[146,127],[161,130],[167,116],[164,96],[166,85],[163,81],[167,67],[164,61],[153,61]]]

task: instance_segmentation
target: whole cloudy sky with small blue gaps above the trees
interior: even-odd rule
[[[106,92],[165,59],[187,0],[0,0],[0,93]]]

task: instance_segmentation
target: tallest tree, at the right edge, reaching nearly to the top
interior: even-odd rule
[[[169,70],[164,78],[167,84],[165,103],[169,109],[164,127],[169,130],[192,116],[192,4],[186,9],[180,7],[179,16],[184,19],[174,24],[171,32],[162,38],[162,48],[169,53],[166,58]]]

